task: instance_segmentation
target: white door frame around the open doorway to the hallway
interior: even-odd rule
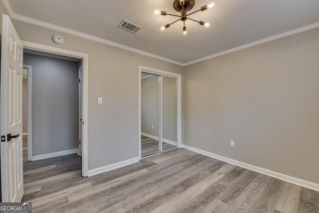
[[[22,41],[23,49],[36,50],[40,52],[53,53],[82,59],[82,176],[88,176],[88,63],[89,55],[72,50],[61,49],[53,46]],[[29,74],[28,74],[29,77]],[[28,82],[29,83],[29,82]],[[31,103],[30,103],[31,105]],[[29,107],[30,109],[30,107]],[[28,110],[29,113],[29,110]],[[29,116],[29,114],[28,114]],[[31,131],[31,122],[28,121],[28,132]],[[28,133],[29,137],[29,133]],[[29,139],[29,138],[28,138]],[[29,148],[29,147],[28,147]],[[31,155],[32,156],[32,155]],[[29,160],[29,159],[28,159]]]

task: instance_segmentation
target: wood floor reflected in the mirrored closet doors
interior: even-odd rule
[[[159,140],[141,135],[142,156],[159,152]],[[163,151],[176,148],[176,146],[162,142]]]

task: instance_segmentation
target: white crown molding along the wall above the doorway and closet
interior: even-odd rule
[[[47,22],[44,22],[44,21],[40,21],[40,20],[37,20],[37,19],[29,18],[29,17],[23,16],[23,15],[15,14],[13,12],[12,7],[10,5],[10,2],[8,0],[1,0],[1,1],[2,1],[5,9],[7,10],[8,15],[12,19],[23,21],[23,22],[30,23],[30,24],[34,24],[34,25],[37,25],[37,26],[42,26],[42,27],[45,27],[45,28],[53,29],[53,30],[57,30],[57,31],[64,32],[64,33],[67,33],[67,34],[71,34],[71,35],[75,35],[75,36],[78,36],[78,37],[82,37],[82,38],[86,38],[86,39],[89,39],[89,40],[93,40],[93,41],[96,41],[96,42],[104,43],[104,44],[107,44],[107,45],[110,45],[110,46],[115,46],[115,47],[118,47],[118,48],[121,48],[121,49],[129,50],[131,52],[139,53],[141,55],[146,55],[146,56],[149,56],[149,57],[152,57],[152,58],[156,58],[156,59],[159,59],[159,60],[162,60],[162,61],[166,61],[166,62],[169,62],[169,63],[176,64],[176,65],[179,65],[179,66],[183,66],[184,65],[181,62],[174,61],[174,60],[171,60],[171,59],[168,59],[168,58],[164,58],[164,57],[161,57],[159,55],[155,55],[155,54],[152,54],[152,53],[149,53],[149,52],[145,52],[145,51],[142,51],[142,50],[139,50],[139,49],[135,49],[135,48],[132,48],[132,47],[129,47],[129,46],[125,46],[125,45],[122,45],[122,44],[119,44],[119,43],[116,43],[116,42],[113,42],[113,41],[109,41],[109,40],[106,40],[106,39],[103,39],[103,38],[99,38],[99,37],[96,37],[96,36],[93,36],[93,35],[85,34],[85,33],[78,32],[78,31],[75,31],[75,30],[72,30],[72,29],[68,29],[68,28],[64,28],[64,27],[61,27],[61,26],[57,26],[57,25],[54,25],[54,24],[50,24],[50,23],[47,23]]]

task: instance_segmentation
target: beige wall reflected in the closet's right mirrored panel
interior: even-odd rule
[[[162,137],[177,142],[177,79],[162,77]]]

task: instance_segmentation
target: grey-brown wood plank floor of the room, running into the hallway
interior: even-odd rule
[[[33,213],[319,213],[319,192],[185,149],[88,178],[74,155],[24,166]]]

